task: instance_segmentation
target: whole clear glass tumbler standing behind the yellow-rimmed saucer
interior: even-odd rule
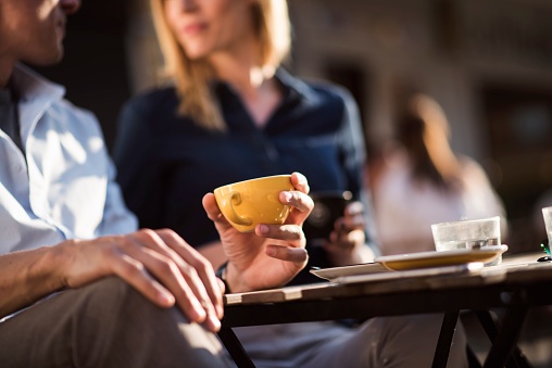
[[[500,216],[434,224],[431,225],[431,232],[437,252],[479,249],[501,244]],[[500,262],[501,258],[499,257],[493,264]]]

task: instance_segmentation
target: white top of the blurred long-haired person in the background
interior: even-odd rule
[[[431,224],[501,217],[502,237],[507,223],[499,198],[479,164],[462,157],[461,191],[441,191],[429,182],[415,182],[402,151],[386,157],[386,169],[373,188],[374,213],[381,253],[435,251]]]

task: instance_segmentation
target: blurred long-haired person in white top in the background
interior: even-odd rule
[[[431,224],[501,216],[505,210],[484,169],[455,154],[449,124],[428,96],[399,99],[396,139],[371,165],[376,228],[382,254],[435,251]]]

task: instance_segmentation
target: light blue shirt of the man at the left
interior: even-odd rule
[[[137,229],[97,118],[16,65],[25,154],[0,130],[0,254]]]

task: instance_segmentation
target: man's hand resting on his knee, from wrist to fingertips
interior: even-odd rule
[[[172,230],[70,240],[52,250],[66,287],[116,275],[156,305],[176,304],[191,321],[221,328],[224,285],[209,261]]]

